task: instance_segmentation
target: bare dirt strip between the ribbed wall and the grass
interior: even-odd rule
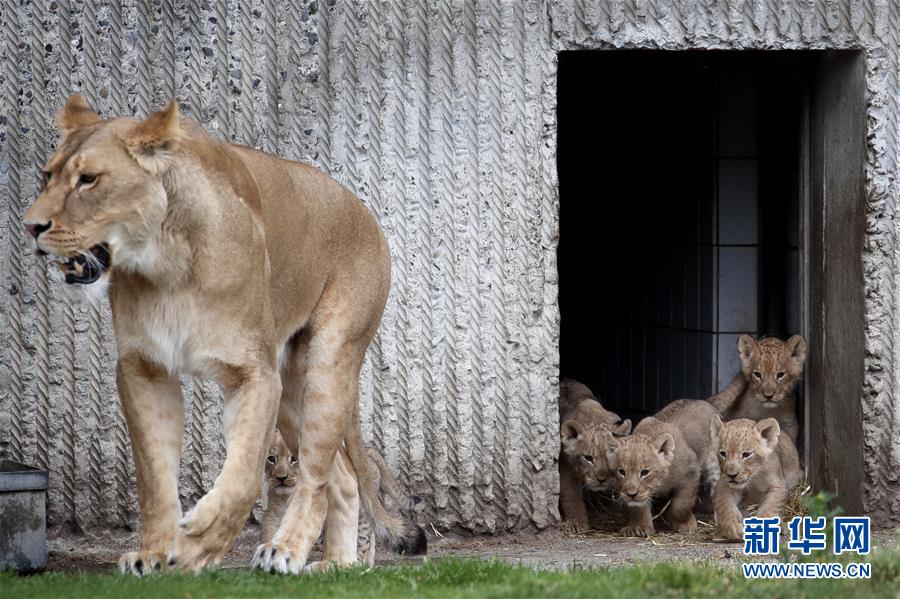
[[[226,556],[225,568],[245,567],[256,549],[259,532],[247,525],[234,548]],[[875,546],[897,544],[900,531],[878,531]],[[713,561],[728,564],[741,559],[741,545],[716,539],[714,528],[702,522],[694,534],[660,532],[651,539],[624,539],[614,533],[563,534],[557,529],[519,532],[496,536],[429,534],[429,557],[447,556],[497,558],[540,568],[566,569],[590,566],[618,566],[659,561]],[[72,535],[51,532],[48,571],[109,572],[123,551],[137,546],[137,536],[129,533]],[[408,563],[421,558],[405,558],[379,547],[379,565]],[[316,556],[311,556],[316,559]]]

